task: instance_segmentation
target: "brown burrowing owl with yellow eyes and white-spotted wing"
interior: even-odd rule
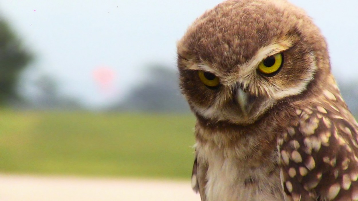
[[[228,0],[178,42],[203,201],[358,200],[358,124],[325,39],[285,0]]]

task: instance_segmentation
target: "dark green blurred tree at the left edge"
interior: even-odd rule
[[[16,84],[19,74],[31,60],[31,54],[0,16],[0,104],[19,99]]]

